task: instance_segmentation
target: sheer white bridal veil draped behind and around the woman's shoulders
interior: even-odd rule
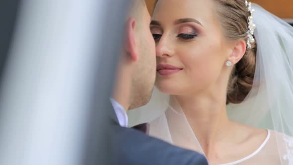
[[[225,165],[293,165],[293,27],[257,4],[252,7],[257,27],[254,87],[242,103],[229,104],[227,114],[236,122],[267,129],[268,136],[254,153]],[[173,96],[155,88],[149,104],[139,109],[149,115],[162,112],[150,123],[151,136],[204,154]]]

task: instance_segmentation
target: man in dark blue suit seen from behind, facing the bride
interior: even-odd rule
[[[147,104],[155,74],[155,43],[149,30],[145,0],[131,0],[123,49],[111,98],[111,157],[113,165],[208,165],[204,156],[127,128],[127,110]],[[114,113],[115,112],[115,113]]]

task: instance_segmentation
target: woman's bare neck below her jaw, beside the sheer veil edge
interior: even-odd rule
[[[229,132],[225,99],[219,96],[172,96],[171,102],[178,101],[180,107],[197,136],[204,152],[214,150],[215,144]]]

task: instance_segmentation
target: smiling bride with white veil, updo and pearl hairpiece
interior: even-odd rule
[[[150,29],[151,136],[211,165],[293,165],[293,27],[245,0],[158,0]]]

